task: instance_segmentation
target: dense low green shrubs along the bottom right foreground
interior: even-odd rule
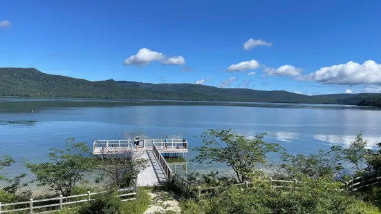
[[[309,180],[297,191],[259,185],[228,191],[195,202],[185,200],[183,213],[380,213],[378,208],[339,191],[339,184],[324,179]]]

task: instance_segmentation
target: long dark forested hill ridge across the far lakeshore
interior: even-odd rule
[[[304,104],[357,104],[356,95],[307,96],[283,90],[217,88],[196,84],[149,84],[136,81],[87,81],[48,75],[35,68],[0,68],[0,95],[100,99],[247,101]]]

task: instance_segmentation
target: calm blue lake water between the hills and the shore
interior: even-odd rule
[[[11,155],[18,162],[1,174],[24,172],[22,159],[45,161],[48,148],[62,148],[68,137],[92,146],[95,139],[169,136],[187,139],[191,148],[201,145],[194,135],[208,128],[232,128],[247,137],[266,132],[267,142],[277,142],[289,153],[317,153],[333,144],[348,146],[359,132],[375,146],[380,142],[381,111],[308,104],[0,97],[0,155]],[[187,159],[194,155],[190,151]],[[225,166],[187,164],[188,171],[221,168]]]

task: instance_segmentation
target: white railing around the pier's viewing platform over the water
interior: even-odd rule
[[[121,151],[129,150],[134,147],[133,139],[97,139],[93,143],[93,153],[95,150],[112,150]],[[165,139],[139,139],[140,147],[156,146],[158,150],[187,150],[187,142],[183,142],[183,139],[168,139],[167,147],[165,146]]]

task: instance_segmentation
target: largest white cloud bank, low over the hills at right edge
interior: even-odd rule
[[[381,64],[364,61],[363,64],[349,61],[346,64],[320,68],[319,70],[295,78],[300,81],[317,81],[322,84],[360,85],[381,84]]]

